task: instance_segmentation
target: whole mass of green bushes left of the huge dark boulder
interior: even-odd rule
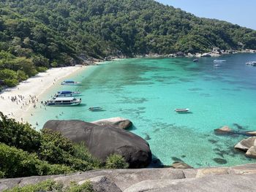
[[[50,130],[35,131],[0,112],[0,177],[63,174],[101,166],[85,145]]]

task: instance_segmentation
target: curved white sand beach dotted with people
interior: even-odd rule
[[[27,115],[31,115],[29,109],[34,107],[34,104],[39,104],[38,98],[42,93],[56,83],[60,83],[59,80],[85,68],[86,66],[67,66],[48,69],[46,72],[20,82],[15,88],[7,88],[0,93],[0,111],[10,118],[20,122],[25,121]],[[17,99],[12,101],[11,98],[15,96]]]

